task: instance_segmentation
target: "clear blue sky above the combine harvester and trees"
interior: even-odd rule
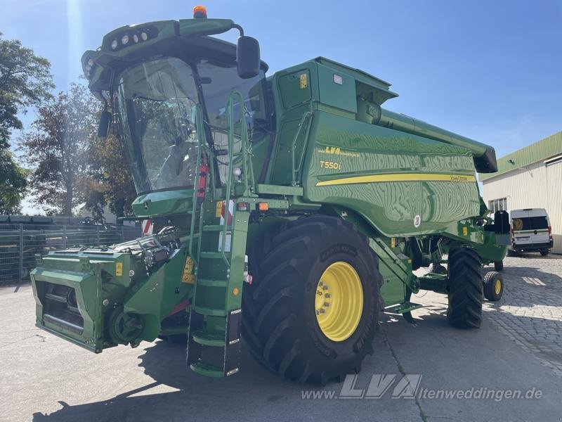
[[[384,108],[488,143],[498,157],[562,130],[558,0],[0,0],[0,32],[51,60],[64,90],[105,33],[190,18],[197,4],[257,38],[268,75],[317,56],[365,70],[400,95]]]

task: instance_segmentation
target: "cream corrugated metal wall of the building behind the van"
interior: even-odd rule
[[[483,181],[483,198],[490,200],[507,198],[507,208],[544,208],[552,226],[554,248],[562,253],[562,161],[551,165],[544,162],[522,167]]]

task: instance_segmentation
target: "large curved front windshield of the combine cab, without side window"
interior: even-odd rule
[[[189,65],[159,58],[122,72],[117,89],[124,143],[139,193],[195,182],[197,90]]]

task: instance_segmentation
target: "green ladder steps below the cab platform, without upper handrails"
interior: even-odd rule
[[[249,212],[236,211],[233,200],[226,204],[223,200],[209,200],[202,206],[188,330],[190,369],[215,378],[233,375],[240,369]]]

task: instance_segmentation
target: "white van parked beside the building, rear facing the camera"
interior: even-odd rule
[[[512,210],[511,250],[514,252],[540,252],[546,256],[552,248],[552,229],[547,210],[525,208]]]

